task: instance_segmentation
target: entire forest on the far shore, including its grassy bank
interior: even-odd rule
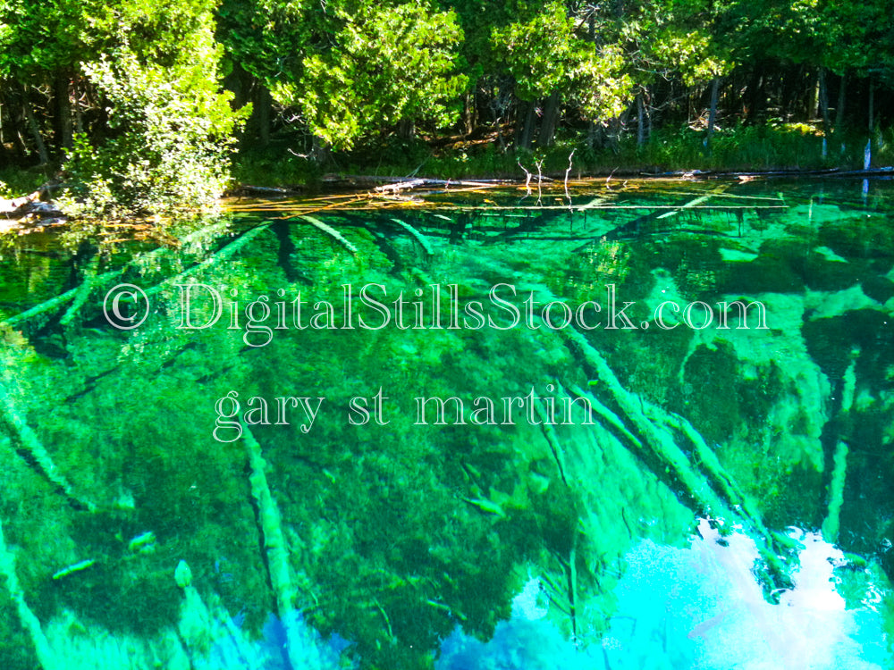
[[[330,174],[890,164],[890,10],[0,0],[0,188],[108,218]]]

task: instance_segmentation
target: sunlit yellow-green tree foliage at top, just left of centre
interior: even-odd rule
[[[310,130],[329,145],[350,148],[399,121],[456,121],[467,78],[456,71],[462,32],[453,13],[423,4],[364,4],[343,21],[332,48],[308,54],[299,84],[274,87],[274,97],[299,105]]]

